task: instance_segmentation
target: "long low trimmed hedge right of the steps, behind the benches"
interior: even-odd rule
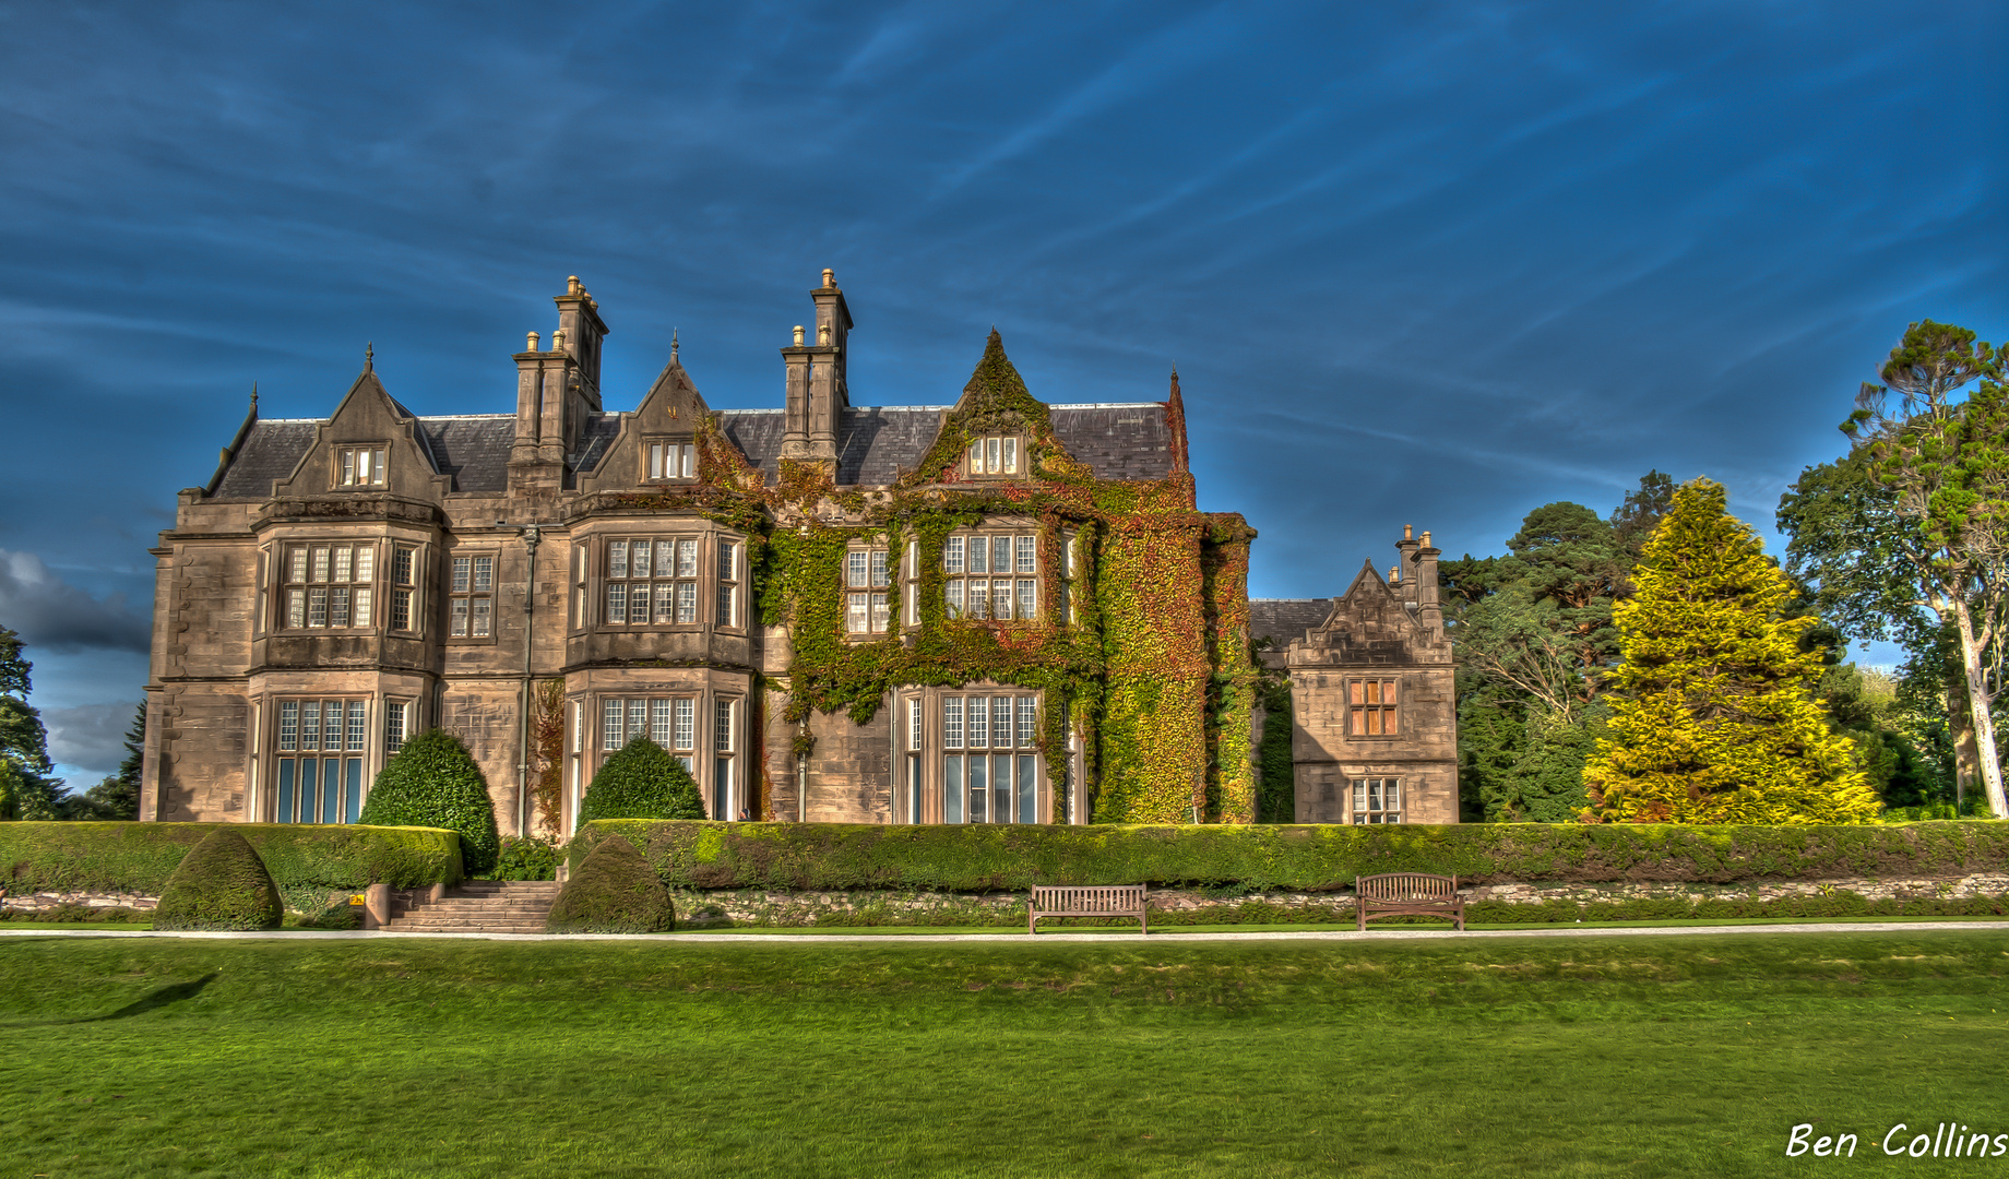
[[[603,819],[573,838],[577,870],[609,836],[635,844],[671,888],[912,888],[1002,892],[1033,884],[1338,890],[1376,872],[1461,884],[1923,878],[2009,868],[2009,823],[1686,828],[1463,826],[940,826]]]

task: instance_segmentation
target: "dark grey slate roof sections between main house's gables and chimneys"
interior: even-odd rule
[[[914,470],[942,428],[946,406],[880,406],[844,410],[838,426],[838,486],[884,486]],[[1171,428],[1157,402],[1117,406],[1051,406],[1053,432],[1069,454],[1089,464],[1097,478],[1147,480],[1171,474]],[[621,434],[623,414],[593,414],[581,428],[575,472],[599,468]],[[782,410],[725,410],[725,436],[769,482],[779,476]],[[313,446],[319,422],[255,422],[213,498],[263,500],[271,480],[293,474]],[[434,466],[452,476],[456,492],[508,490],[508,450],[516,438],[514,414],[420,418],[420,438]],[[571,486],[571,476],[567,476]],[[1324,621],[1324,619],[1320,619]]]

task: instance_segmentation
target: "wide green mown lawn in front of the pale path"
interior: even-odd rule
[[[1774,1175],[2009,1133],[2009,930],[0,938],[0,1175]]]

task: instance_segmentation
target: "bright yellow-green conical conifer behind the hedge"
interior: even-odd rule
[[[1607,735],[1583,771],[1591,821],[1860,823],[1876,793],[1812,695],[1810,617],[1792,582],[1726,510],[1722,484],[1673,494],[1619,603],[1623,663]]]

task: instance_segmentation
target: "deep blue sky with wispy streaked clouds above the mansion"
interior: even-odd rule
[[[376,343],[504,412],[577,273],[631,408],[681,331],[779,406],[834,267],[860,404],[1159,400],[1254,593],[1499,552],[1649,468],[1784,486],[1911,319],[2009,335],[2001,4],[0,4],[0,625],[72,783],[147,548],[245,412]]]

